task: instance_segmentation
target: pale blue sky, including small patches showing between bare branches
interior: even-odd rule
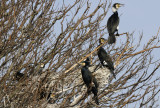
[[[92,5],[91,12],[93,12],[93,10],[96,8],[99,1],[100,0],[90,0],[90,3]],[[108,5],[109,1],[111,0],[108,0]],[[59,1],[59,3],[62,2],[63,0]],[[73,4],[72,0],[71,1],[64,0],[64,2],[66,5]],[[140,34],[143,33],[143,39],[141,42],[142,46],[146,44],[148,40],[152,38],[152,36],[155,36],[157,34],[158,29],[160,27],[160,6],[159,6],[160,0],[113,0],[112,4],[113,3],[125,4],[124,7],[121,7],[118,10],[118,13],[120,15],[120,24],[119,24],[120,34],[124,32],[129,32],[129,33],[135,32],[134,38],[139,39]],[[84,6],[83,8],[85,7],[86,6]],[[110,8],[109,12],[106,15],[105,18],[106,20],[104,20],[104,22],[102,23],[107,24],[107,20],[111,15],[112,15],[112,10]],[[60,25],[57,25],[55,31],[58,31],[59,28]],[[107,39],[108,35],[105,35],[104,38]],[[123,41],[123,38],[125,38],[125,35],[118,37],[117,41],[119,40]],[[116,44],[117,46],[119,45],[118,42]],[[159,56],[159,53],[160,49],[154,50],[154,58],[155,58],[154,60],[157,59],[156,56]]]

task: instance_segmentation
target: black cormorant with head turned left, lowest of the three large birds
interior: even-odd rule
[[[94,94],[95,103],[99,105],[98,96],[97,96],[99,85],[97,83],[96,78],[92,75],[92,73],[88,69],[88,67],[90,66],[89,58],[83,61],[81,65],[83,66],[81,69],[82,78],[83,78],[84,83],[87,86],[87,92],[89,94],[92,91],[92,93]]]

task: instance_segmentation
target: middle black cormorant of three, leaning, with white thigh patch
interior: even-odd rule
[[[99,39],[99,44],[103,44],[105,41],[104,38],[100,38]],[[104,66],[104,67],[107,67],[109,68],[109,70],[111,71],[111,73],[113,74],[114,78],[116,79],[116,75],[114,73],[114,65],[113,65],[113,62],[112,62],[112,59],[111,57],[107,54],[107,52],[104,50],[103,47],[100,47],[98,49],[98,58],[101,62],[101,64]]]

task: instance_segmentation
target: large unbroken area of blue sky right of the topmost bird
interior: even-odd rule
[[[144,34],[144,40],[156,35],[160,27],[160,0],[113,0],[113,3],[124,3],[119,9],[119,31],[135,31]]]

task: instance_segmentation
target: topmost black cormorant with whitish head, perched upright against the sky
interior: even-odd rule
[[[120,3],[115,3],[112,6],[113,14],[109,17],[108,22],[107,22],[107,29],[109,33],[109,37],[108,37],[109,44],[116,42],[116,38],[114,35],[115,32],[117,32],[116,36],[119,36],[118,34],[119,16],[118,16],[117,10],[121,6],[123,6],[123,4],[120,4]]]

